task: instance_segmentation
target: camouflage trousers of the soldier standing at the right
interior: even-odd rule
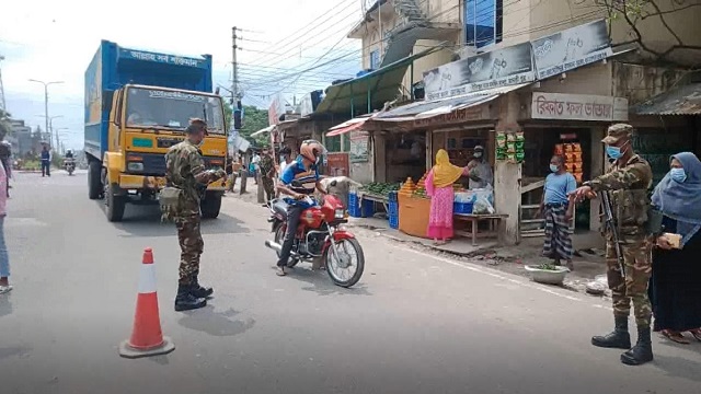
[[[647,297],[647,285],[652,276],[652,244],[636,240],[621,245],[621,251],[625,265],[625,278],[621,277],[613,242],[606,243],[606,274],[613,299],[613,315],[628,317],[632,301],[635,324],[643,328],[650,327],[653,312]]]

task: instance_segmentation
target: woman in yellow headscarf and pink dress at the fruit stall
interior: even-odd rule
[[[436,153],[436,165],[425,181],[426,194],[430,197],[427,233],[436,245],[443,245],[452,237],[452,184],[468,174],[468,167],[450,163],[448,152],[444,149]]]

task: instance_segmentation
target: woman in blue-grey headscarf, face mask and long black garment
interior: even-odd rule
[[[689,332],[701,341],[701,161],[691,152],[670,158],[670,170],[653,193],[663,213],[663,231],[678,234],[678,247],[660,235],[653,251],[648,292],[655,317],[653,329],[679,344]]]

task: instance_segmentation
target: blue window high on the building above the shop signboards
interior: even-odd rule
[[[467,45],[482,48],[502,42],[503,0],[466,0]]]

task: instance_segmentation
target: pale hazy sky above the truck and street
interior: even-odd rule
[[[244,104],[267,108],[278,92],[291,104],[360,70],[360,42],[345,36],[360,21],[363,2],[229,1],[210,8],[182,0],[122,0],[101,11],[76,0],[12,1],[3,5],[0,23],[8,111],[44,129],[44,86],[28,80],[62,81],[49,85],[48,114],[58,116],[51,124],[66,148],[80,150],[84,71],[101,39],[183,56],[210,54],[215,85],[230,88],[232,26],[243,30],[237,56]]]

